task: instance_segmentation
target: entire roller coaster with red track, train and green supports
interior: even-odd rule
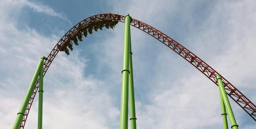
[[[231,84],[226,78],[220,75],[216,70],[214,70],[211,66],[205,63],[190,50],[158,29],[155,29],[154,27],[137,19],[131,18],[128,13],[126,16],[112,13],[103,13],[93,15],[77,23],[59,40],[47,58],[44,56],[41,58],[20,111],[17,114],[13,129],[23,129],[25,127],[30,108],[37,91],[39,93],[38,129],[42,128],[43,77],[59,51],[65,52],[67,55],[69,55],[69,50],[73,50],[73,45],[78,45],[78,40],[82,41],[82,37],[87,37],[87,33],[92,34],[93,30],[102,30],[103,27],[107,29],[114,29],[118,22],[125,23],[120,129],[128,128],[128,96],[130,98],[130,121],[132,129],[136,129],[137,120],[135,116],[134,104],[130,25],[140,29],[143,32],[146,32],[150,36],[162,42],[165,46],[169,47],[175,53],[180,55],[183,59],[187,60],[187,62],[189,62],[197,70],[203,73],[209,80],[219,86],[222,109],[221,115],[223,118],[224,129],[228,128],[227,115],[231,123],[231,128],[238,129],[238,124],[236,124],[236,120],[227,96],[234,100],[236,104],[238,104],[254,121],[256,121],[255,104],[253,104],[251,100],[249,100],[242,92],[233,86],[233,84]]]

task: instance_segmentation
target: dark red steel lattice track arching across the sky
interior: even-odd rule
[[[68,39],[68,35],[73,35],[78,31],[78,25],[82,24],[83,26],[88,26],[91,23],[95,23],[100,20],[115,20],[119,22],[124,22],[125,16],[119,15],[119,14],[111,14],[111,13],[104,13],[104,14],[97,14],[93,15],[91,17],[88,17],[87,19],[82,20],[81,22],[77,23],[73,28],[71,28],[55,45],[55,47],[52,49],[51,53],[48,55],[47,60],[44,62],[44,75],[47,72],[49,66],[51,65],[53,59],[58,54],[59,49],[57,45],[64,45],[66,40]],[[174,39],[170,38],[169,36],[165,35],[161,31],[155,29],[154,27],[141,22],[136,19],[131,19],[130,25],[146,32],[147,34],[151,35],[155,39],[162,42],[164,45],[172,49],[174,52],[179,54],[181,57],[183,57],[185,60],[187,60],[190,64],[192,64],[197,70],[202,72],[205,76],[207,76],[213,83],[215,83],[218,86],[218,83],[216,82],[216,75],[220,75],[217,71],[215,71],[211,66],[209,66],[207,63],[205,63],[203,60],[201,60],[199,57],[197,57],[194,53],[190,52],[187,48],[182,46],[180,43],[176,42]],[[220,75],[221,76],[221,75]],[[239,90],[236,89],[231,83],[229,83],[228,80],[226,80],[223,76],[222,81],[225,85],[225,89],[229,97],[231,97],[240,107],[242,107],[247,114],[249,114],[254,121],[256,121],[256,106],[247,98],[244,96],[243,93],[241,93]],[[39,79],[37,79],[37,83],[34,87],[34,91],[30,97],[30,101],[27,105],[25,116],[22,119],[22,122],[20,124],[20,129],[23,129],[27,120],[28,113],[30,111],[30,107],[33,103],[34,97],[38,90],[38,82]]]

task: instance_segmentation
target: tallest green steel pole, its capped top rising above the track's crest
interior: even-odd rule
[[[127,13],[124,23],[123,70],[120,110],[120,129],[128,129],[128,85],[129,85],[129,49],[130,49],[130,15]]]

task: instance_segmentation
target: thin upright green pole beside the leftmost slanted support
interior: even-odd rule
[[[38,121],[37,121],[37,129],[42,129],[42,121],[43,121],[43,79],[44,79],[44,68],[41,67],[41,71],[39,74],[39,99],[38,99]]]

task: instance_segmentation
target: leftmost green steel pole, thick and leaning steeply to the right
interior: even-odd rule
[[[31,81],[31,83],[30,83],[30,86],[29,86],[29,88],[28,88],[27,94],[26,94],[26,96],[25,96],[25,98],[24,98],[24,100],[23,100],[23,103],[22,103],[22,105],[21,105],[21,107],[20,107],[20,111],[19,111],[18,114],[17,114],[16,120],[15,120],[15,122],[14,122],[14,124],[13,124],[12,129],[18,129],[18,128],[20,127],[20,123],[21,123],[21,121],[22,121],[23,116],[25,115],[24,113],[25,113],[25,111],[26,111],[27,104],[28,104],[28,102],[29,102],[29,100],[30,100],[30,97],[31,97],[31,95],[32,95],[32,93],[33,93],[35,84],[36,84],[36,82],[37,82],[37,78],[38,78],[39,73],[40,73],[40,71],[41,71],[41,67],[43,67],[44,59],[47,59],[47,58],[43,56],[43,57],[41,58],[39,64],[38,64],[38,66],[37,66],[36,72],[35,72],[34,77],[33,77],[32,81]]]

